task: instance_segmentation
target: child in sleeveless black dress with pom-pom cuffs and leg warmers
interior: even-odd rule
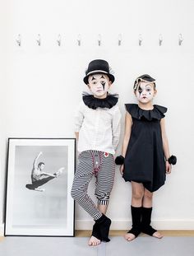
[[[138,100],[126,104],[125,135],[122,142],[122,156],[116,158],[125,181],[132,182],[132,229],[125,239],[134,240],[141,232],[162,238],[150,226],[153,192],[165,182],[165,175],[171,173],[176,157],[170,156],[169,143],[165,133],[163,106],[153,105],[156,94],[155,79],[149,75],[137,77],[133,87]]]

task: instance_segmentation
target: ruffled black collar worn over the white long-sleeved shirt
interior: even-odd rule
[[[90,109],[97,108],[108,108],[111,109],[114,105],[118,103],[118,94],[108,94],[105,99],[95,98],[94,95],[83,93],[82,97],[85,105]]]

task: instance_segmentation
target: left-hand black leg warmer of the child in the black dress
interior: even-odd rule
[[[141,210],[142,207],[132,207],[132,229],[129,230],[127,233],[132,233],[135,236],[140,235],[141,233]]]

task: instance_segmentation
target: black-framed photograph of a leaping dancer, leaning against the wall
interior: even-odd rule
[[[75,138],[9,138],[5,235],[74,236]]]

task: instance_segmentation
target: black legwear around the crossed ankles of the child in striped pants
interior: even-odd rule
[[[109,242],[109,229],[110,229],[111,220],[104,214],[95,221],[93,226],[92,235],[98,238],[101,241]]]

